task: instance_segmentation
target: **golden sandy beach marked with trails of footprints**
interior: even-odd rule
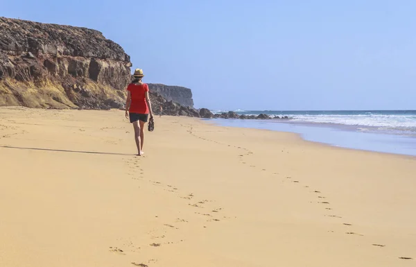
[[[0,108],[0,266],[416,266],[415,157]],[[400,259],[400,257],[413,259]]]

